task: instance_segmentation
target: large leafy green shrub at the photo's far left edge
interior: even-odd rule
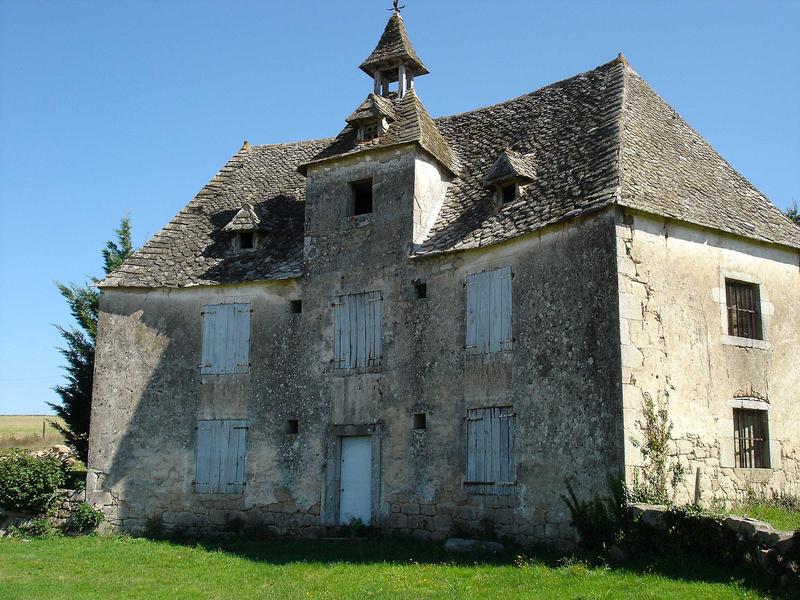
[[[25,450],[0,454],[0,506],[40,513],[64,485],[64,465],[54,453],[40,456]]]

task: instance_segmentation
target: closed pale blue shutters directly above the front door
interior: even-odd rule
[[[333,366],[337,369],[381,364],[381,292],[338,296],[333,303]]]

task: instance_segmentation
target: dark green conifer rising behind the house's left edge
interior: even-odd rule
[[[131,223],[126,216],[114,230],[116,241],[103,248],[103,271],[106,275],[120,266],[133,253]],[[94,378],[94,348],[97,336],[97,312],[100,295],[92,277],[91,284],[75,285],[56,282],[58,291],[69,304],[76,325],[70,328],[56,326],[65,346],[59,352],[66,359],[64,366],[67,381],[54,389],[61,397],[60,403],[48,404],[64,420],[65,425],[55,427],[64,435],[67,445],[78,457],[86,461],[89,453],[89,417],[92,411],[92,384]]]

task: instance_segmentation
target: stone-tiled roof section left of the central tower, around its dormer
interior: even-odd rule
[[[300,275],[305,179],[297,165],[330,139],[242,148],[170,222],[100,287],[190,287]],[[270,229],[258,248],[231,254],[225,225],[252,204]]]

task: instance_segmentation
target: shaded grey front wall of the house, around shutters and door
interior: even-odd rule
[[[374,212],[349,216],[348,182],[366,177]],[[564,479],[590,495],[623,465],[615,213],[411,260],[426,221],[415,211],[432,206],[419,190],[445,184],[409,149],[318,167],[302,278],[103,291],[87,490],[112,525],[137,530],[157,516],[190,532],[318,535],[336,524],[338,435],[360,431],[376,436],[373,525],[419,538],[573,538]],[[503,266],[514,271],[514,348],[467,355],[465,277]],[[415,280],[427,298],[415,298]],[[332,301],[365,291],[383,294],[382,364],[342,372],[331,364]],[[303,313],[290,314],[301,297]],[[199,374],[200,311],[221,300],[252,304],[249,374]],[[466,411],[498,404],[516,413],[517,484],[508,495],[467,494]],[[413,428],[417,412],[427,429]],[[248,420],[243,494],[193,492],[200,418]],[[298,434],[285,433],[288,419]]]

